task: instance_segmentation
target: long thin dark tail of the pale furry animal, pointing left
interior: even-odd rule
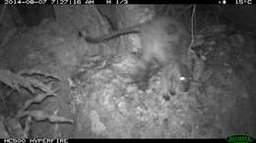
[[[123,29],[118,29],[118,30],[112,31],[107,34],[103,34],[98,37],[91,37],[91,36],[84,35],[81,31],[79,31],[79,35],[84,37],[87,42],[98,43],[98,42],[103,42],[103,41],[112,39],[114,37],[117,37],[117,36],[123,35],[123,34],[138,33],[138,32],[140,32],[140,27],[141,27],[141,24],[136,24],[134,26],[130,26],[130,27],[123,28]]]

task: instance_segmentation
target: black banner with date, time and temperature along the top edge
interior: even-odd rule
[[[125,4],[248,4],[252,0],[1,0],[1,4],[125,5]]]

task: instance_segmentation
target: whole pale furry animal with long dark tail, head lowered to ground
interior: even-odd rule
[[[99,37],[82,36],[88,42],[98,43],[130,33],[140,34],[142,45],[141,58],[146,65],[149,66],[157,61],[163,68],[163,94],[167,94],[169,91],[175,93],[176,90],[179,90],[173,89],[173,83],[171,85],[168,83],[178,81],[181,77],[181,71],[188,72],[190,35],[185,26],[174,18],[161,17],[145,24],[136,24]],[[172,81],[169,81],[170,78]],[[179,82],[176,83],[178,84]]]

